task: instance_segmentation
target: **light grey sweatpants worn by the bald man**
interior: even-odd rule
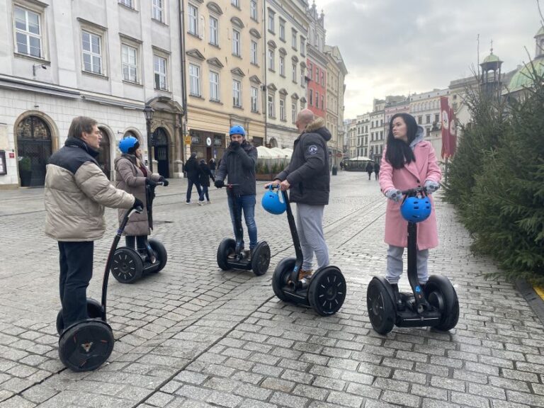
[[[329,248],[323,235],[324,205],[297,203],[297,232],[302,246],[302,269],[312,270],[312,262],[317,258],[319,268],[329,265]]]

